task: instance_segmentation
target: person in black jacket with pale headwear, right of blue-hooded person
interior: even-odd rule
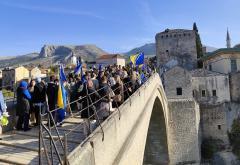
[[[43,110],[46,105],[46,86],[44,82],[41,81],[41,78],[37,78],[37,84],[34,86],[33,104],[35,106],[35,118],[36,118],[35,125],[38,125],[40,109],[41,113],[43,113]]]

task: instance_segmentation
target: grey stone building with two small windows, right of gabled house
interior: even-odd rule
[[[195,69],[192,73],[193,97],[200,104],[218,104],[230,101],[227,74]]]

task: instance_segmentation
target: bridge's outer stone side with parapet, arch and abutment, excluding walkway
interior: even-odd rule
[[[154,74],[69,155],[70,164],[199,164],[194,100],[168,100]]]

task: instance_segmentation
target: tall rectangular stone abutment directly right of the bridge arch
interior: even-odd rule
[[[199,163],[200,112],[193,100],[169,99],[169,156],[172,164]]]

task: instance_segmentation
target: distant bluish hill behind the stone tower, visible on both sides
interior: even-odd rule
[[[217,49],[217,48],[210,47],[210,46],[206,46],[206,47],[207,47],[207,52],[212,52],[212,51]],[[134,48],[134,49],[132,49],[129,52],[126,52],[124,54],[127,55],[127,56],[130,56],[130,55],[135,54],[137,52],[144,52],[144,54],[146,56],[154,56],[154,55],[156,55],[156,45],[155,45],[155,43],[145,44],[143,46]]]

